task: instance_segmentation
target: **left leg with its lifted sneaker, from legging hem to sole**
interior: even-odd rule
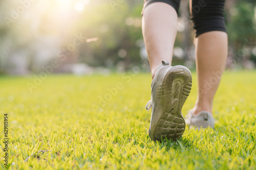
[[[142,25],[152,78],[156,74],[151,83],[152,100],[146,105],[147,110],[152,107],[148,129],[152,140],[165,137],[176,139],[182,136],[185,120],[181,109],[190,92],[192,81],[191,73],[186,67],[169,65],[177,34],[179,0],[159,1],[146,1]]]

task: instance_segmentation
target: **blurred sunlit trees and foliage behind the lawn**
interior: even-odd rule
[[[226,0],[228,69],[256,65],[255,0]],[[0,72],[92,74],[149,65],[141,32],[143,1],[0,1]],[[195,33],[182,0],[173,65],[195,68]],[[80,38],[79,38],[80,37]]]

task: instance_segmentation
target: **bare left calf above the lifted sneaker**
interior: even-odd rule
[[[177,21],[176,10],[166,3],[150,4],[143,11],[142,32],[152,78],[162,60],[168,60],[170,65],[172,63]]]

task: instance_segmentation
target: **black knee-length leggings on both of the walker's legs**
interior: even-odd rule
[[[169,4],[177,13],[179,11],[180,0],[144,0],[142,14],[148,5],[157,2]],[[209,31],[226,32],[224,4],[225,0],[192,0],[190,19],[193,20],[196,37]]]

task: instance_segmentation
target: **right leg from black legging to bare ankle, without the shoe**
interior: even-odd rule
[[[190,0],[196,30],[198,95],[193,114],[212,113],[212,104],[225,69],[228,42],[223,11],[225,0]]]

